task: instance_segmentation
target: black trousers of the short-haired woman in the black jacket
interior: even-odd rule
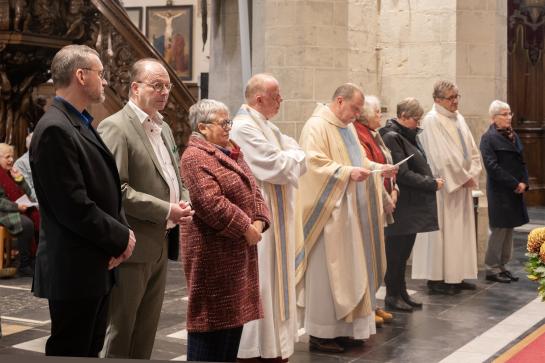
[[[400,236],[386,236],[386,295],[400,296],[407,290],[405,283],[405,269],[407,260],[413,250],[416,233]]]

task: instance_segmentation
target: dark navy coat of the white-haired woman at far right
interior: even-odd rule
[[[492,124],[481,138],[480,149],[487,174],[490,227],[513,228],[528,223],[523,195],[515,193],[519,183],[528,185],[528,170],[518,135],[512,143]]]

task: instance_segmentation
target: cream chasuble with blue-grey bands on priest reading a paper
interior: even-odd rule
[[[374,229],[383,228],[374,225],[372,215],[382,211],[382,190],[351,181],[350,172],[354,166],[380,164],[365,157],[354,126],[343,124],[326,105],[316,107],[300,144],[308,166],[300,180],[305,248],[296,256],[299,266],[308,262],[297,281],[305,329],[322,338],[367,338],[375,332],[374,287],[369,285],[379,274]]]

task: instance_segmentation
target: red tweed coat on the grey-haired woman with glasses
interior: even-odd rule
[[[230,329],[262,318],[257,248],[243,234],[255,220],[268,227],[269,211],[242,153],[235,161],[192,136],[181,174],[195,210],[193,221],[182,224],[187,330]]]

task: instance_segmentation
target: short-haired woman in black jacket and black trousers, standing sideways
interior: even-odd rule
[[[397,120],[390,119],[380,129],[394,163],[413,155],[399,167],[397,185],[399,198],[394,211],[394,223],[386,227],[386,284],[387,308],[412,311],[422,304],[407,293],[405,269],[411,255],[416,234],[439,229],[435,192],[443,187],[441,178],[434,178],[424,151],[416,142],[418,126],[424,110],[414,98],[406,98],[397,105]]]

